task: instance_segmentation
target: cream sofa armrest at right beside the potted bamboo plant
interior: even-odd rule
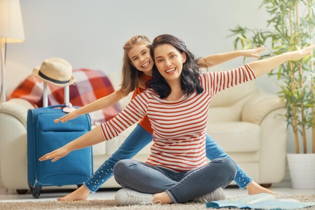
[[[247,101],[242,120],[260,126],[259,183],[275,183],[285,174],[287,123],[286,104],[275,94],[258,93]]]

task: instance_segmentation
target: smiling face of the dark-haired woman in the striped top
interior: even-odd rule
[[[181,53],[170,44],[159,45],[154,49],[154,61],[166,81],[180,81],[183,63],[186,61],[185,52]]]

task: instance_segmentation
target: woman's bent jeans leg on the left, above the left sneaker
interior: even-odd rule
[[[122,187],[138,192],[159,193],[177,184],[175,171],[137,160],[120,160],[114,166],[114,177]]]

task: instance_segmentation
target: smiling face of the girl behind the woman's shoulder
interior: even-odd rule
[[[150,55],[150,49],[146,45],[136,44],[128,52],[132,65],[143,72],[150,72],[154,62]]]

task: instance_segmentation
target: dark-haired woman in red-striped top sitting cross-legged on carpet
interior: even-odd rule
[[[154,144],[147,161],[121,160],[114,167],[116,181],[125,187],[116,193],[117,203],[176,203],[222,197],[219,189],[232,180],[236,166],[228,158],[205,162],[204,140],[212,96],[255,79],[283,62],[310,55],[314,47],[199,75],[194,56],[180,39],[171,35],[156,37],[151,56],[157,70],[153,69],[150,88],[136,96],[113,122],[101,126],[106,140],[120,131],[115,126],[117,121],[124,129],[123,125],[132,123],[129,119],[147,115],[152,124]]]

